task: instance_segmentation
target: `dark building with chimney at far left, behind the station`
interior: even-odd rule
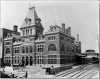
[[[13,26],[13,30],[5,29],[5,28],[0,28],[0,59],[1,59],[1,64],[3,65],[3,60],[4,60],[4,52],[5,52],[5,40],[7,37],[11,35],[20,35],[20,33],[17,31],[17,26]],[[8,46],[9,47],[9,46]]]

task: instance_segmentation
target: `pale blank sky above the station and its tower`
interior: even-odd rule
[[[72,35],[79,33],[82,52],[95,49],[98,52],[99,6],[97,1],[1,1],[1,27],[13,29],[21,26],[28,8],[35,5],[45,31],[50,25],[66,23]]]

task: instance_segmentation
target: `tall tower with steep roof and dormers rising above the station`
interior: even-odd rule
[[[43,26],[41,24],[41,19],[38,17],[35,7],[30,7],[21,25],[21,36],[25,38],[38,37],[43,34]]]

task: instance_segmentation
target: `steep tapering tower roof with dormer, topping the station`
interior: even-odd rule
[[[30,7],[21,27],[35,25],[36,19],[38,18],[35,7]]]

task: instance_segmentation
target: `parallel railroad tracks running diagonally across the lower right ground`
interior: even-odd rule
[[[56,75],[56,77],[64,77],[64,78],[79,78],[81,79],[80,76],[84,76],[85,73],[87,73],[90,69],[92,69],[94,66],[79,66],[75,69],[70,69],[65,71],[64,73]],[[93,73],[94,74],[94,73]]]

